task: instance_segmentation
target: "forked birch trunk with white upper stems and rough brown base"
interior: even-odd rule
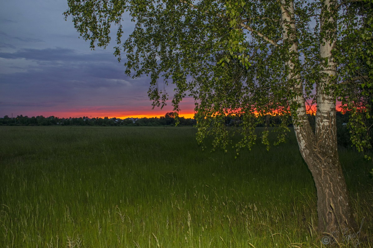
[[[312,131],[307,119],[303,84],[297,71],[299,52],[296,42],[296,26],[294,18],[294,2],[281,0],[281,23],[283,41],[289,43],[290,58],[288,65],[288,80],[294,81],[293,90],[297,96],[293,99],[300,107],[293,119],[295,135],[300,152],[310,169],[317,190],[317,215],[319,233],[336,233],[342,229],[353,231],[357,228],[351,214],[351,205],[347,193],[345,178],[339,163],[336,139],[335,98],[332,89],[327,89],[333,83],[336,74],[336,64],[333,62],[332,48],[335,44],[336,30],[330,29],[333,19],[333,0],[325,0],[320,15],[321,31],[327,31],[320,44],[320,56],[326,59],[326,66],[320,68],[323,75],[317,85],[316,130]],[[328,25],[327,25],[328,24]],[[327,26],[328,30],[324,27]]]

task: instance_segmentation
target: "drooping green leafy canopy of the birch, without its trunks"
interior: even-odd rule
[[[288,1],[282,1],[286,3]],[[360,149],[368,140],[361,138],[368,129],[370,104],[363,110],[355,107],[357,96],[372,92],[372,0],[332,1],[337,12],[326,12],[324,1],[295,1],[294,21],[285,26],[280,20],[278,0],[68,0],[66,18],[72,16],[80,35],[90,41],[91,48],[106,47],[112,25],[117,26],[115,55],[121,60],[125,53],[126,73],[133,77],[150,75],[148,91],[153,106],[163,107],[168,94],[160,82],[175,84],[172,104],[176,112],[187,94],[195,99],[197,139],[214,137],[213,145],[226,149],[230,136],[225,128],[226,116],[239,116],[242,129],[236,129],[242,140],[239,150],[250,147],[257,139],[256,116],[276,114],[280,121],[278,141],[288,131],[285,120],[292,116],[297,122],[295,101],[315,103],[315,87],[319,91],[333,90],[351,115],[349,128],[352,142]],[[194,4],[195,3],[195,4]],[[358,10],[358,14],[356,13]],[[338,25],[326,23],[320,29],[320,12],[333,17]],[[131,16],[135,29],[122,41],[124,13]],[[296,29],[290,26],[296,23]],[[320,78],[328,59],[320,56],[320,42],[333,38],[338,42],[333,55],[338,74],[322,85]],[[292,45],[297,51],[292,51]],[[300,59],[302,58],[302,59]],[[291,66],[289,65],[291,63]],[[363,69],[364,68],[364,69]],[[300,75],[288,78],[288,75]],[[363,76],[364,82],[360,76]],[[351,81],[346,86],[344,83]],[[297,89],[294,85],[301,84]],[[351,92],[358,94],[351,94]],[[302,103],[304,104],[304,103]],[[366,111],[367,110],[367,111]],[[368,113],[369,112],[369,113]],[[365,117],[363,117],[365,115]],[[268,143],[263,135],[264,143]],[[275,142],[278,144],[278,142]]]

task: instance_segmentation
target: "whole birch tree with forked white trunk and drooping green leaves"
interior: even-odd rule
[[[115,56],[126,73],[150,77],[153,107],[168,100],[174,110],[195,99],[197,141],[237,153],[257,141],[269,146],[268,130],[257,136],[260,117],[283,121],[274,129],[285,140],[291,116],[299,149],[317,189],[318,230],[357,227],[338,158],[336,101],[354,112],[350,120],[358,149],[372,89],[372,0],[68,0],[66,18],[91,48],[106,47],[116,30]],[[123,16],[134,31],[123,41]],[[307,119],[316,107],[316,128]],[[242,139],[232,144],[226,115],[239,116]],[[258,140],[257,140],[258,139]]]

